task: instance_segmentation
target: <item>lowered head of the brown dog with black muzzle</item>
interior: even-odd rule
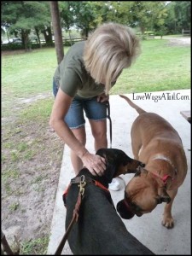
[[[117,204],[121,218],[132,218],[135,214],[141,217],[152,212],[162,202],[170,202],[165,186],[159,186],[153,175],[143,168],[131,178],[125,187],[125,198]]]

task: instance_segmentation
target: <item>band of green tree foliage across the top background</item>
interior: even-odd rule
[[[169,34],[190,30],[190,1],[58,1],[61,28],[69,32],[76,28],[86,38],[103,22],[118,22],[145,31]],[[27,48],[31,33],[44,35],[52,43],[51,15],[48,1],[3,1],[2,35],[21,38]]]

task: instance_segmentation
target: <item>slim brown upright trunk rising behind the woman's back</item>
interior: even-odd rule
[[[63,43],[62,43],[62,32],[58,1],[50,1],[50,13],[52,19],[52,26],[55,38],[55,50],[57,56],[57,63],[60,64],[64,57]]]

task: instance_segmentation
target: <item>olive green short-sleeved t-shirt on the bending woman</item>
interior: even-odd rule
[[[96,84],[84,67],[84,41],[73,44],[55,70],[55,83],[68,96],[89,98],[104,92],[104,84]]]

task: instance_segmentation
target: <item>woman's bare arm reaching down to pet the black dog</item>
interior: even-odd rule
[[[97,154],[90,154],[84,145],[73,135],[73,132],[67,126],[64,118],[73,101],[73,97],[68,96],[65,92],[58,90],[55,97],[55,103],[49,119],[49,125],[55,130],[62,141],[67,144],[83,161],[93,175],[102,176],[106,169],[105,159]]]

